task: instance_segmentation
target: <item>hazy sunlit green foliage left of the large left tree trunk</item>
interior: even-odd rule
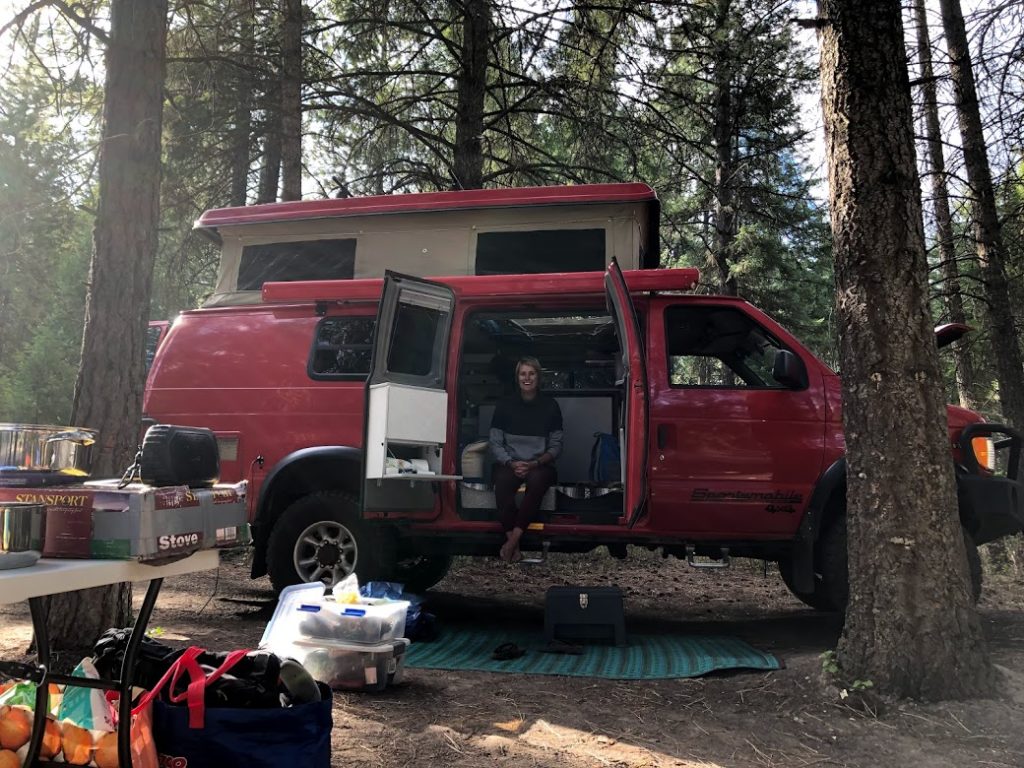
[[[41,74],[27,66],[0,89],[0,421],[65,423],[91,222],[74,197],[82,137],[61,129],[68,116]]]

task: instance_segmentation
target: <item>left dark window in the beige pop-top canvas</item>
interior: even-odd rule
[[[354,239],[264,243],[242,249],[239,290],[258,291],[264,283],[351,280],[354,275]]]

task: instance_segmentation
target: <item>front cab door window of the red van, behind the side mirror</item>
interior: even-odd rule
[[[772,377],[782,346],[738,309],[671,306],[665,326],[670,385],[784,388]]]

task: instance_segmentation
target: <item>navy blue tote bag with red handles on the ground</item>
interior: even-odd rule
[[[247,651],[227,655],[213,673],[196,662],[202,648],[188,648],[147,695],[153,698],[153,735],[160,764],[168,768],[331,767],[331,689],[321,700],[274,709],[206,707],[206,687]],[[182,675],[184,692],[175,693]],[[170,682],[167,698],[158,698]]]

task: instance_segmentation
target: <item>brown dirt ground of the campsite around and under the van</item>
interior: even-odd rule
[[[151,627],[172,644],[255,646],[273,595],[265,579],[247,573],[234,556],[217,572],[167,580]],[[382,693],[336,695],[333,765],[1024,767],[1020,583],[989,577],[982,599],[992,658],[1004,671],[996,697],[873,701],[873,711],[822,680],[835,618],[804,607],[760,563],[709,571],[649,554],[515,566],[466,559],[429,593],[430,610],[441,623],[470,614],[540,631],[544,592],[563,584],[618,585],[628,629],[732,635],[785,667],[654,682],[407,670],[402,685]],[[27,608],[0,607],[0,655],[20,656],[30,635]]]

